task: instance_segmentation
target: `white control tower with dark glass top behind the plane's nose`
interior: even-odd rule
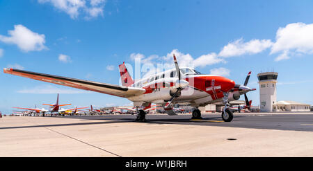
[[[266,72],[257,74],[259,79],[259,106],[260,111],[273,111],[276,100],[276,83],[278,73]]]

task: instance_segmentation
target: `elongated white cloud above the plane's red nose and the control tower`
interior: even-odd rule
[[[243,42],[243,39],[237,39],[223,47],[218,54],[220,57],[233,57],[239,55],[253,55],[264,51],[266,48],[273,46],[270,39],[252,39],[250,42]]]

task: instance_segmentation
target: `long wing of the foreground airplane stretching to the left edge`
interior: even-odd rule
[[[31,78],[34,80],[40,80],[44,82],[50,82],[54,84],[59,84],[67,87],[73,87],[77,89],[84,89],[88,91],[96,91],[99,93],[106,93],[113,96],[119,96],[127,98],[130,96],[136,96],[145,93],[145,89],[136,87],[126,87],[115,84],[106,84],[101,82],[93,82],[86,80],[79,80],[75,78],[65,78],[56,75],[49,75],[45,73],[34,73],[31,71],[24,71],[20,69],[3,69],[4,73],[9,73],[12,75],[18,75],[25,78]]]

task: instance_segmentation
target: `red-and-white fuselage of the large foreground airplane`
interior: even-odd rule
[[[180,96],[175,98],[175,102],[207,105],[210,102],[221,100],[223,92],[229,92],[235,86],[233,80],[222,76],[204,75],[188,67],[181,67],[180,71],[182,79],[189,84],[181,91]],[[143,88],[146,91],[139,96],[132,96],[128,99],[134,102],[165,103],[177,90],[175,87],[178,80],[176,74],[175,69],[171,69],[136,80],[134,84],[131,84],[131,87]]]

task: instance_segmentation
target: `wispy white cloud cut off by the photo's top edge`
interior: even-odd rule
[[[103,16],[105,0],[38,0],[39,3],[51,3],[54,8],[66,12],[72,19],[77,19],[80,13],[85,13],[86,19]]]

